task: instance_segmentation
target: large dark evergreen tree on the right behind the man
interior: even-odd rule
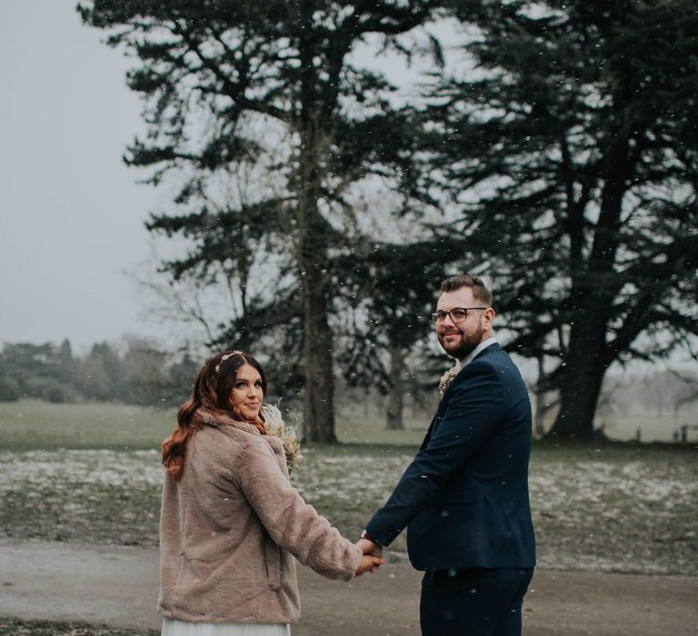
[[[589,436],[612,363],[698,333],[693,0],[459,0],[469,64],[434,89],[430,169],[463,211],[553,432]],[[693,342],[695,342],[693,340]]]

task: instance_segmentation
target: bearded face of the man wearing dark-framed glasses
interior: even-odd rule
[[[454,292],[444,292],[436,304],[436,311],[450,312],[456,307],[482,307],[483,303],[474,298],[470,287],[462,287]],[[491,312],[492,310],[488,310]],[[444,351],[454,358],[463,360],[474,348],[492,335],[492,320],[488,312],[471,310],[467,318],[454,323],[450,316],[436,325],[436,336]]]

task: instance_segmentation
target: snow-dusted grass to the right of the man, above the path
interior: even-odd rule
[[[661,447],[534,452],[540,563],[698,573],[698,452]]]

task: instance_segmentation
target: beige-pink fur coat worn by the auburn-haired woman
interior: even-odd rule
[[[361,551],[291,485],[278,437],[209,419],[181,481],[165,474],[158,610],[180,621],[297,621],[294,557],[349,581]]]

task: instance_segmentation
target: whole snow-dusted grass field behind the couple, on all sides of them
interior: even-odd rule
[[[174,411],[0,407],[2,535],[156,545],[163,474],[157,447]],[[416,423],[407,432],[382,426],[342,422],[340,439],[357,443],[308,446],[294,473],[306,500],[350,537],[384,502],[424,434]],[[536,443],[530,484],[541,565],[698,575],[694,445]],[[401,536],[391,558],[404,558],[403,551]]]

